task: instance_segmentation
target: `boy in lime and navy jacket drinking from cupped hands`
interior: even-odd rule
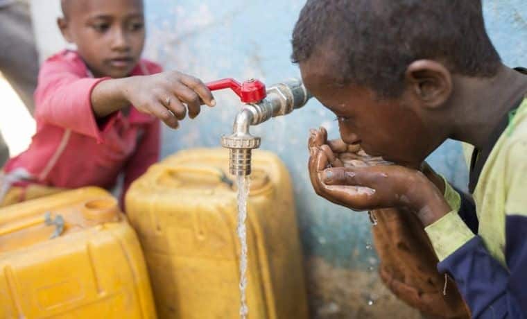
[[[309,0],[293,59],[346,144],[399,164],[328,168],[312,145],[316,192],[415,214],[474,318],[526,318],[527,76],[501,63],[481,0]],[[420,172],[448,138],[474,146],[470,196]]]

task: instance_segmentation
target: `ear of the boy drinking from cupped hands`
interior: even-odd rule
[[[444,105],[452,94],[452,76],[443,64],[416,60],[406,68],[405,80],[426,107]]]

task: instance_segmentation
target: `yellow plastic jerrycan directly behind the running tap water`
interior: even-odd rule
[[[236,185],[222,149],[182,151],[126,196],[159,318],[239,318]],[[249,318],[308,317],[291,180],[271,153],[253,154],[248,200]]]

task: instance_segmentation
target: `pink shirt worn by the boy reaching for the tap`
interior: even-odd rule
[[[141,60],[132,76],[160,71],[158,64]],[[126,191],[158,160],[159,120],[132,107],[128,117],[116,112],[98,123],[90,96],[103,80],[90,76],[75,51],[46,60],[35,92],[37,132],[28,150],[9,160],[4,171],[24,169],[30,182],[47,186],[106,189],[124,173]]]

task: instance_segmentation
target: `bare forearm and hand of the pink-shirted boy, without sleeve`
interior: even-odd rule
[[[191,119],[200,113],[202,101],[211,107],[215,105],[210,90],[201,80],[178,71],[102,81],[94,87],[91,101],[100,119],[134,105],[171,128],[178,128],[178,120],[187,115],[183,103],[188,105]]]

